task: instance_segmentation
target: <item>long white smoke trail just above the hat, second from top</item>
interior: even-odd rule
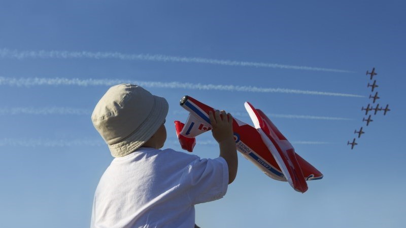
[[[331,93],[310,90],[295,90],[283,88],[262,88],[255,86],[234,86],[234,85],[213,85],[213,84],[192,84],[181,82],[150,82],[150,81],[130,81],[118,79],[67,79],[67,78],[5,78],[0,77],[0,85],[7,86],[113,86],[120,83],[133,83],[149,88],[168,89],[191,89],[191,90],[221,90],[256,93],[289,93],[306,94],[320,96],[341,96],[341,97],[365,97],[356,94]]]

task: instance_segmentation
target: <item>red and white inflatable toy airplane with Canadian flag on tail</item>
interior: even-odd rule
[[[175,121],[176,133],[182,148],[191,152],[195,137],[211,130],[209,111],[215,109],[190,96],[182,97],[180,105],[190,113],[185,124]],[[323,178],[320,171],[295,153],[290,142],[261,110],[248,102],[245,107],[255,128],[236,118],[232,123],[236,149],[245,158],[267,176],[288,181],[297,192],[307,191],[307,180]]]

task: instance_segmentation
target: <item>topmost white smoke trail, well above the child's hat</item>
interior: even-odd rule
[[[123,54],[119,52],[69,52],[69,51],[17,51],[9,50],[7,48],[0,49],[0,58],[41,58],[41,59],[120,59],[120,60],[145,60],[145,61],[160,61],[160,62],[183,62],[183,63],[204,63],[216,64],[226,66],[250,66],[250,67],[267,67],[267,68],[280,68],[280,69],[297,69],[297,70],[313,70],[313,71],[327,71],[339,73],[352,73],[353,71],[330,69],[321,67],[310,66],[294,66],[283,65],[278,63],[264,63],[264,62],[247,62],[247,61],[233,61],[233,60],[220,60],[220,59],[207,59],[199,57],[179,57],[168,55],[150,55],[150,54]]]

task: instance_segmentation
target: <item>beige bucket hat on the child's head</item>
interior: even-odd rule
[[[120,84],[101,97],[91,119],[111,155],[123,157],[151,138],[164,123],[167,112],[165,98],[137,85]]]

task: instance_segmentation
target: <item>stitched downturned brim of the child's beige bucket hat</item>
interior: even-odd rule
[[[163,97],[154,96],[154,106],[148,118],[129,136],[114,144],[109,144],[113,157],[124,157],[141,147],[163,124],[168,113],[168,103]]]

